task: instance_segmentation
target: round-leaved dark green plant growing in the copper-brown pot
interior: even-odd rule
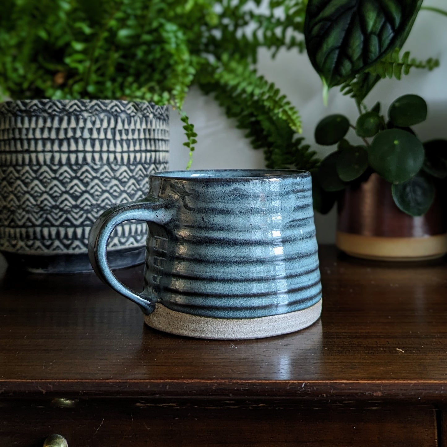
[[[337,150],[322,160],[314,173],[314,206],[330,211],[340,191],[378,173],[392,184],[392,197],[401,211],[425,214],[435,196],[435,185],[447,177],[447,140],[421,143],[412,126],[427,116],[426,102],[417,95],[394,101],[387,119],[380,103],[362,113],[355,125],[343,115],[323,118],[315,129],[315,141]],[[362,145],[345,138],[352,129]]]

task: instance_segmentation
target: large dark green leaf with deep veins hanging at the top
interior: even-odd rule
[[[422,0],[309,0],[304,34],[315,70],[332,87],[370,67],[411,30]]]

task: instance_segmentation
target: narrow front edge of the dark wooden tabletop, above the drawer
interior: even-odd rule
[[[371,398],[442,402],[447,381],[439,380],[0,380],[0,398],[29,396],[292,398],[296,400]]]

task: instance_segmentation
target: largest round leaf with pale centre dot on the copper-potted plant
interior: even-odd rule
[[[422,143],[401,129],[379,132],[368,149],[371,168],[391,183],[402,183],[415,176],[422,168],[424,156]]]

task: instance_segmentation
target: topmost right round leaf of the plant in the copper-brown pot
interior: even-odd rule
[[[401,96],[390,105],[388,118],[395,126],[414,126],[427,118],[427,103],[418,95]]]

